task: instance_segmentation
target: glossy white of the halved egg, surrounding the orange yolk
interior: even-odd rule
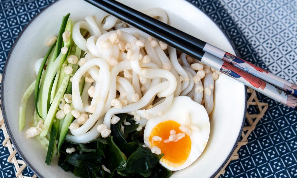
[[[210,132],[209,118],[206,109],[188,96],[177,96],[173,98],[170,107],[162,116],[151,118],[147,122],[144,130],[143,138],[149,138],[152,129],[159,123],[173,120],[181,125],[185,125],[187,113],[190,115],[191,124],[197,125],[200,129],[199,131],[192,131],[192,134],[190,135],[192,142],[191,151],[185,163],[178,167],[171,167],[168,164],[163,163],[162,159],[160,160],[162,166],[172,171],[188,167],[197,160],[205,149]],[[144,143],[151,149],[150,141],[144,139]],[[162,150],[162,148],[160,149]]]

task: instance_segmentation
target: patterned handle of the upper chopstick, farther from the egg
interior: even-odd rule
[[[222,59],[223,61],[226,61],[237,68],[244,70],[248,72],[249,74],[254,75],[255,77],[258,77],[268,83],[271,83],[272,85],[281,88],[285,92],[287,92],[290,95],[297,96],[297,85],[294,83],[291,83],[281,77],[278,77],[271,72],[268,72],[267,70],[262,69],[261,67],[258,67],[252,63],[249,63],[248,61],[245,61],[235,55],[232,55],[230,53],[227,53],[217,47],[214,47],[212,45],[206,44],[203,51],[216,56],[217,58]]]

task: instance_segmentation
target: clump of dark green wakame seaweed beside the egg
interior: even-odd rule
[[[81,178],[170,177],[172,171],[159,163],[163,154],[156,155],[143,147],[143,133],[136,131],[138,124],[135,124],[133,116],[117,116],[120,121],[111,125],[110,138],[99,137],[87,144],[65,141],[59,152],[59,166]],[[130,125],[124,125],[124,120]],[[121,126],[124,126],[123,131]],[[75,152],[66,153],[66,149],[71,147],[75,148]]]

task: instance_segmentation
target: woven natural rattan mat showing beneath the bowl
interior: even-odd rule
[[[218,178],[221,174],[225,173],[225,168],[228,166],[228,164],[230,163],[230,161],[232,160],[236,160],[238,159],[239,155],[237,154],[238,150],[240,149],[240,147],[242,147],[243,145],[246,145],[248,142],[248,136],[249,134],[251,134],[251,132],[255,129],[257,123],[259,122],[259,120],[261,119],[261,117],[263,117],[263,115],[265,114],[267,108],[268,108],[268,104],[267,103],[261,103],[256,95],[255,90],[252,90],[251,88],[247,88],[247,93],[249,96],[249,99],[247,100],[247,107],[254,107],[257,109],[257,113],[248,113],[246,115],[246,125],[243,128],[243,131],[241,133],[241,139],[237,144],[237,147],[235,148],[233,154],[231,155],[230,159],[227,161],[227,163],[225,164],[225,166],[222,168],[221,171],[219,171],[219,173],[217,174],[217,176],[215,176],[215,178]],[[0,101],[1,104],[1,101]],[[248,109],[249,110],[249,109]],[[4,141],[2,142],[4,147],[7,147],[9,150],[10,155],[7,158],[7,161],[9,163],[12,163],[13,166],[15,167],[16,170],[16,174],[15,176],[18,178],[30,178],[27,176],[23,176],[22,171],[26,168],[26,163],[23,160],[18,160],[15,157],[15,154],[17,153],[17,151],[15,150],[13,144],[10,142],[9,139],[9,135],[7,134],[5,125],[4,125],[4,120],[2,117],[2,110],[0,109],[0,129],[3,130],[3,134],[4,134]],[[33,177],[37,177],[35,174],[33,175]]]

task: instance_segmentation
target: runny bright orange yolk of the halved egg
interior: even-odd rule
[[[152,129],[149,138],[151,147],[159,147],[164,154],[161,161],[171,167],[178,167],[185,163],[191,151],[191,139],[187,135],[177,142],[164,142],[169,138],[171,130],[175,130],[176,134],[181,133],[179,126],[181,125],[173,120],[159,123]],[[153,141],[154,136],[161,137],[162,141]]]

